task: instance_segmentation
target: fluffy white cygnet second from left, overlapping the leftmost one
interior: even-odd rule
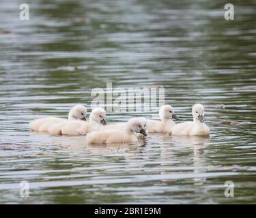
[[[67,121],[51,125],[48,131],[52,135],[86,135],[91,131],[106,125],[106,111],[103,108],[94,108],[89,116],[89,123],[83,121]]]

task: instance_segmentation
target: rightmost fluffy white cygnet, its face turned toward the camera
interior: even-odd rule
[[[171,130],[171,135],[177,136],[209,136],[210,130],[204,123],[204,107],[195,104],[192,108],[193,121],[179,123]]]

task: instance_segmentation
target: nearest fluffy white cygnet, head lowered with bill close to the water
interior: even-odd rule
[[[93,131],[87,134],[89,144],[98,143],[127,143],[137,142],[137,136],[134,133],[140,133],[147,136],[147,124],[145,119],[130,119],[123,130],[108,129],[103,131]]]

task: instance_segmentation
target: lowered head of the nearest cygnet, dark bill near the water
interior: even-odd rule
[[[147,136],[147,120],[142,117],[132,118],[127,122],[126,129]]]

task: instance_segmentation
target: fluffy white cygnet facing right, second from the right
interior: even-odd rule
[[[170,132],[175,126],[175,120],[179,120],[174,113],[173,107],[170,105],[163,105],[159,110],[159,117],[161,121],[147,120],[148,132]]]

